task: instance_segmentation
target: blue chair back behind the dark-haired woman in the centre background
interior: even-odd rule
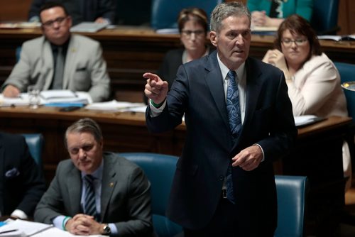
[[[187,7],[198,7],[211,15],[214,7],[223,0],[152,0],[151,27],[155,30],[162,28],[178,28],[178,14]]]

